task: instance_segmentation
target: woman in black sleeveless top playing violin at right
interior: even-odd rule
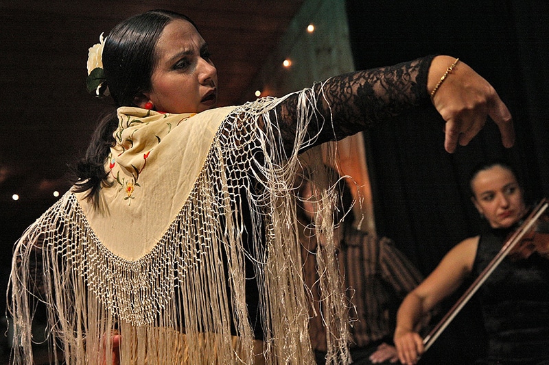
[[[450,250],[401,303],[395,345],[402,364],[416,364],[425,351],[416,328],[419,318],[453,294],[469,275],[478,277],[528,213],[517,174],[504,162],[476,168],[469,186],[471,200],[489,227]],[[505,257],[476,294],[488,336],[487,350],[476,364],[549,364],[549,235],[545,225],[542,222],[539,234],[528,236],[528,244]]]

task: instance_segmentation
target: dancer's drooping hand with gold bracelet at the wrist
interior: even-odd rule
[[[428,91],[439,83],[441,76],[455,58],[440,55],[434,58],[429,69]],[[445,125],[444,147],[449,153],[457,144],[465,146],[484,127],[490,117],[500,128],[504,147],[515,143],[513,118],[494,88],[461,60],[455,66],[432,99]]]

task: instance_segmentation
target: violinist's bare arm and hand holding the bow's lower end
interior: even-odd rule
[[[421,318],[452,294],[473,268],[478,236],[450,250],[433,272],[402,301],[397,312],[395,346],[402,364],[415,364],[425,350],[417,333]]]

